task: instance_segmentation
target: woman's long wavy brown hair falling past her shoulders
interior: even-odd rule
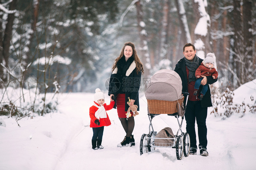
[[[132,47],[132,56],[133,56],[134,61],[135,61],[135,63],[136,63],[136,72],[137,72],[137,74],[138,74],[140,71],[141,71],[141,73],[143,74],[143,73],[144,73],[143,65],[142,65],[142,63],[141,63],[141,61],[140,61],[139,56],[137,55],[137,51],[135,50],[135,45],[134,45],[132,42],[126,42],[126,43],[124,43],[124,47],[122,48],[119,57],[115,59],[115,62],[114,62],[113,67],[112,67],[112,72],[114,71],[115,67],[117,67],[116,63],[117,63],[122,57],[125,57],[125,56],[124,56],[124,48],[125,48],[126,46]]]

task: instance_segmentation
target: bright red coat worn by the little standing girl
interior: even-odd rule
[[[96,102],[94,102],[94,103],[96,103]],[[96,104],[99,106],[98,103],[96,103]],[[110,110],[110,109],[113,109],[114,105],[115,105],[115,102],[114,102],[114,101],[111,101],[109,105],[107,105],[106,103],[103,104],[103,106],[104,106],[104,108],[105,108],[106,111],[107,111],[107,110]],[[99,109],[99,108],[96,107],[96,106],[90,107],[90,110],[89,110],[89,115],[90,115],[90,118],[91,118],[91,121],[90,121],[90,128],[98,128],[98,127],[101,127],[101,126],[109,126],[109,125],[111,125],[111,122],[110,122],[110,120],[109,120],[108,115],[107,115],[107,118],[102,118],[102,119],[100,118],[100,119],[99,119],[100,125],[97,125],[96,123],[94,123],[94,121],[97,119],[97,118],[95,117],[95,112],[96,112],[98,109]]]

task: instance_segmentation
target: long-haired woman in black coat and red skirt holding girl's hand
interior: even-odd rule
[[[134,117],[127,118],[126,113],[129,108],[128,97],[131,99],[131,105],[137,105],[139,111],[138,91],[141,84],[141,73],[144,73],[143,65],[137,55],[135,45],[132,42],[126,42],[113,64],[108,92],[110,100],[115,101],[114,108],[117,108],[119,120],[126,133],[124,140],[117,145],[118,147],[135,145],[132,135]]]

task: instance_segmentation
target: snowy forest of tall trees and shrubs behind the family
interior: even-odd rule
[[[256,78],[255,9],[252,0],[0,0],[1,115],[44,115],[55,109],[55,94],[107,91],[128,41],[144,66],[142,91],[156,71],[174,69],[185,43],[200,58],[214,53],[214,102],[230,106],[232,91]],[[19,104],[3,100],[10,89],[18,89]]]

